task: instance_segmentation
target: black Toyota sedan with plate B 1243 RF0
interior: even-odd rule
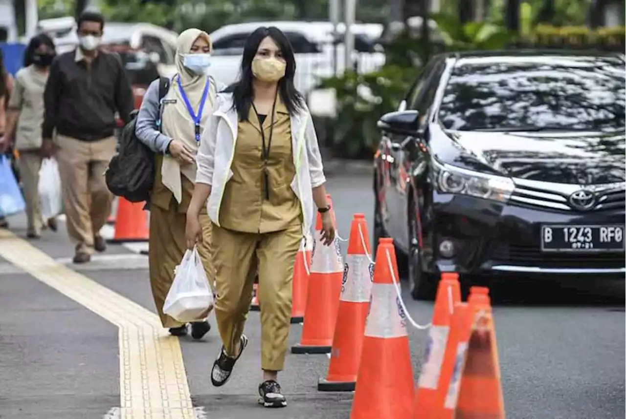
[[[394,239],[414,298],[444,271],[626,278],[619,56],[436,56],[378,125],[375,243]]]

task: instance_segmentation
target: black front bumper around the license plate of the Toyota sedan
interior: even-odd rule
[[[626,252],[543,253],[540,236],[544,224],[624,225],[626,208],[569,213],[451,194],[435,193],[433,198],[423,225],[426,271],[626,279]],[[444,240],[454,243],[449,258],[439,251]]]

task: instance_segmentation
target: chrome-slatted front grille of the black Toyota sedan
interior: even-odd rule
[[[563,186],[562,191],[555,191],[543,182],[516,182],[515,191],[511,195],[511,201],[534,206],[538,208],[551,208],[553,210],[577,211],[570,206],[568,198],[571,193],[582,189],[576,185]],[[623,208],[626,210],[626,183],[612,184],[605,188],[595,187],[598,196],[597,204],[591,211],[606,211]]]

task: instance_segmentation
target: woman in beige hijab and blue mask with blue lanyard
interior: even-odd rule
[[[155,152],[156,163],[155,183],[149,203],[150,285],[162,325],[175,336],[187,335],[187,325],[165,315],[163,303],[174,279],[174,268],[180,264],[187,250],[186,213],[195,183],[195,154],[200,133],[213,113],[217,92],[225,87],[217,85],[207,75],[211,51],[207,33],[187,29],[180,34],[176,51],[178,73],[172,78],[162,101],[158,97],[159,80],[150,84],[136,121],[136,136]],[[205,240],[198,245],[198,253],[212,282],[211,224],[206,210],[200,220]],[[202,338],[210,330],[206,319],[198,319],[191,325],[195,339]]]

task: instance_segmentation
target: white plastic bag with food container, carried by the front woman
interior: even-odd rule
[[[181,323],[204,318],[208,308],[213,305],[213,291],[197,248],[185,252],[174,272],[174,281],[165,297],[163,313]]]

